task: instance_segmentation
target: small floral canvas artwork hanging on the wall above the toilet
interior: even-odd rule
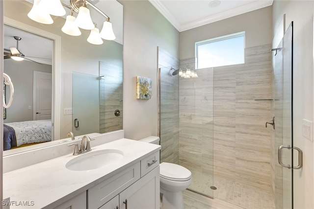
[[[152,98],[152,79],[142,76],[136,76],[136,98],[151,99]]]

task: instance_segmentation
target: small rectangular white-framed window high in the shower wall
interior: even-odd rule
[[[244,63],[245,31],[195,43],[196,69]]]

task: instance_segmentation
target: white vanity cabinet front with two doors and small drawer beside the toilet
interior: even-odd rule
[[[159,209],[158,165],[159,151],[91,187],[87,208]]]

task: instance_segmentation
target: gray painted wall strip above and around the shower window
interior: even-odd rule
[[[245,31],[245,47],[271,43],[271,12],[268,6],[180,33],[180,60],[195,56],[195,42]]]

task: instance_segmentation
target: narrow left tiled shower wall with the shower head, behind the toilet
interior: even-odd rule
[[[167,51],[158,48],[160,85],[160,160],[179,163],[179,77],[170,70],[179,68],[179,59]],[[159,130],[158,130],[159,131]]]

